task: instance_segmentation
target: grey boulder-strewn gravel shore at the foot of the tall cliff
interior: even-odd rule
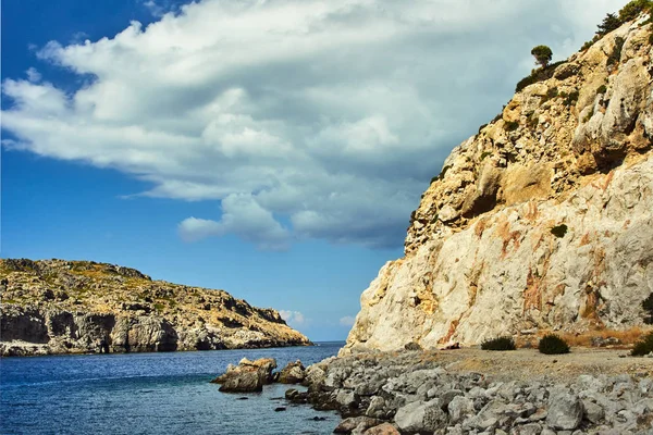
[[[653,434],[653,358],[626,355],[358,353],[298,371],[308,388],[286,399],[337,410],[344,420],[334,432],[346,434]]]

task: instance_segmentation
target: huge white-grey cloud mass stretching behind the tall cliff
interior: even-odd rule
[[[187,240],[395,247],[530,49],[567,55],[625,2],[145,0],[160,15],[146,28],[38,50],[75,91],[36,70],[4,80],[2,144],[150,183],[130,196],[221,201],[180,223]]]

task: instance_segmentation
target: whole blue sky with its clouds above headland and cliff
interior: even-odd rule
[[[344,339],[451,150],[626,0],[4,0],[2,258]]]

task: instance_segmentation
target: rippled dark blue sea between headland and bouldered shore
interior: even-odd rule
[[[231,395],[209,381],[243,357],[275,358],[281,369],[297,359],[305,365],[321,361],[343,345],[3,358],[0,433],[330,434],[340,418],[287,403],[283,395],[293,386]],[[279,407],[286,410],[275,412]]]

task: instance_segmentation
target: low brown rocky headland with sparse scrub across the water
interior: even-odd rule
[[[2,356],[308,345],[272,309],[112,264],[0,260]]]

